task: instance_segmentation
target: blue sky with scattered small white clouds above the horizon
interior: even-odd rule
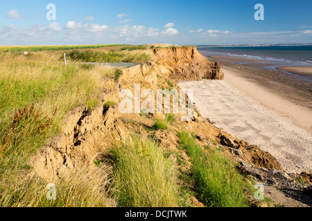
[[[55,20],[46,6],[56,7]],[[264,6],[264,20],[254,6]],[[311,0],[0,0],[0,45],[312,43]]]

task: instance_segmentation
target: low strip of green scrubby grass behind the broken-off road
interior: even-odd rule
[[[60,56],[62,60],[62,55]],[[81,62],[98,62],[98,63],[144,63],[151,61],[151,52],[147,50],[110,50],[92,51],[92,50],[71,50],[67,53],[67,59]]]

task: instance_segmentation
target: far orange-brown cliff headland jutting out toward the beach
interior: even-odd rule
[[[223,79],[220,65],[211,63],[195,47],[159,48],[153,50],[154,61],[175,81]]]

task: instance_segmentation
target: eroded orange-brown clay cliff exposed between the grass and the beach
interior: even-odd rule
[[[128,89],[133,95],[135,84],[140,84],[141,90],[151,89],[156,94],[159,88],[178,89],[178,86],[171,82],[223,79],[223,71],[220,70],[218,63],[209,62],[196,48],[159,48],[153,50],[153,54],[153,62],[123,68],[118,79],[115,77],[103,79],[105,84],[101,95],[103,99],[96,108],[88,110],[86,107],[80,107],[69,113],[60,136],[50,140],[31,160],[38,175],[53,181],[62,177],[66,171],[95,166],[94,160],[109,161],[110,148],[126,142],[127,137],[134,133],[153,137],[161,148],[172,153],[170,158],[177,168],[181,171],[189,171],[191,162],[187,153],[179,148],[179,137],[176,131],[193,133],[201,146],[220,148],[229,159],[248,165],[247,168],[284,172],[281,164],[270,153],[252,145],[251,142],[249,144],[220,130],[196,109],[191,121],[182,121],[183,114],[177,113],[174,115],[173,124],[168,125],[167,130],[158,131],[150,128],[155,123],[155,119],[165,119],[166,115],[163,113],[121,113],[119,102],[123,97],[119,97],[119,92],[121,89]],[[136,99],[137,97],[134,96],[133,100]],[[114,102],[115,105],[107,106],[107,102]],[[144,99],[141,99],[140,104],[142,102]],[[177,157],[173,153],[181,155],[186,163],[178,164]],[[265,173],[261,172],[261,174]],[[275,177],[272,179],[274,180]],[[183,185],[181,180],[178,182]],[[195,197],[189,199],[189,204],[202,206]]]

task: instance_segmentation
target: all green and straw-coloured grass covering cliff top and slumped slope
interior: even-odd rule
[[[110,62],[115,56],[119,61],[145,61],[151,59],[147,51],[78,50],[69,59]],[[33,173],[30,157],[61,133],[69,111],[77,106],[88,106],[91,111],[101,100],[105,79],[116,84],[121,74],[103,66],[90,68],[70,62],[64,66],[44,53],[0,52],[0,206],[188,206],[188,198],[195,193],[206,206],[248,206],[242,192],[245,183],[234,167],[219,153],[204,151],[188,133],[178,135],[181,149],[191,158],[192,174],[187,179],[196,180],[192,191],[184,193],[184,186],[177,184],[181,171],[172,160],[175,153],[139,134],[111,149],[113,169],[97,161],[96,169],[60,177],[55,183],[55,200],[46,199],[49,182]],[[175,86],[169,79],[164,82]],[[115,104],[107,99],[103,105],[110,108]],[[173,122],[177,123],[175,115],[168,114],[155,121],[154,131],[146,133],[153,137],[169,130]]]

